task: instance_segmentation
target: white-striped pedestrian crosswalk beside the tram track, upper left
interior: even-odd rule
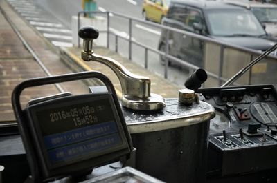
[[[7,0],[10,6],[54,46],[72,47],[72,31],[34,0]]]

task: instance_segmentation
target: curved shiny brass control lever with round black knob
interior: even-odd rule
[[[134,110],[159,110],[166,106],[163,97],[150,93],[151,81],[149,77],[135,75],[118,61],[109,57],[102,57],[93,52],[93,39],[97,39],[99,32],[93,26],[84,26],[78,32],[84,39],[82,59],[84,61],[98,61],[116,73],[122,88],[122,104]]]

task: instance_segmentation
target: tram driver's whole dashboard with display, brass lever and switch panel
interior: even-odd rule
[[[30,176],[21,173],[23,181],[276,180],[277,91],[270,84],[229,84],[277,44],[224,87],[200,88],[207,74],[198,69],[186,80],[186,88],[177,91],[177,99],[163,99],[151,93],[148,77],[134,75],[114,59],[93,52],[96,28],[81,28],[79,36],[84,39],[82,59],[111,68],[120,81],[122,99],[119,102],[111,81],[95,71],[28,79],[17,85],[12,106],[30,168]],[[89,78],[104,85],[91,86],[82,95],[33,99],[21,108],[26,88]],[[12,175],[12,168],[7,172]]]

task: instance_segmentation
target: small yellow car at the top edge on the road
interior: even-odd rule
[[[161,23],[168,12],[170,0],[144,0],[143,19]]]

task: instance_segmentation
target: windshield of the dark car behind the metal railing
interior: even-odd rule
[[[211,35],[215,36],[265,35],[258,19],[246,10],[211,11],[208,12],[207,21]]]

